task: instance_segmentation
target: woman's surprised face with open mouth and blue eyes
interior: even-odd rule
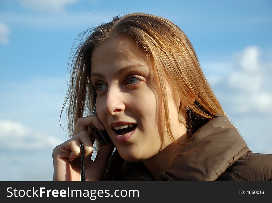
[[[121,157],[141,161],[172,143],[159,136],[156,117],[158,82],[146,52],[133,39],[114,37],[100,43],[91,58],[91,82],[96,88],[96,110]],[[180,100],[172,99],[166,83],[171,130],[182,135],[178,121]]]

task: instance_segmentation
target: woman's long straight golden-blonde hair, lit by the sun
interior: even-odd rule
[[[186,116],[188,132],[197,130],[203,120],[210,119],[216,113],[226,115],[207,82],[185,33],[165,18],[145,13],[131,13],[97,26],[74,53],[70,84],[62,108],[63,112],[68,102],[70,135],[77,119],[83,117],[84,113],[90,114],[96,101],[96,91],[90,79],[93,48],[117,35],[133,38],[154,63],[153,71],[158,76],[158,89],[162,95],[162,108],[159,108],[159,111],[164,111],[159,113],[165,115],[161,118],[161,122],[165,124],[159,129],[161,136],[166,130],[175,141],[170,129],[165,81],[168,81],[177,92],[175,96],[182,98],[184,104],[189,104],[190,110]],[[191,96],[196,99],[195,102],[190,102]]]

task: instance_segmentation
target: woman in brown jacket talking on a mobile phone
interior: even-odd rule
[[[73,59],[67,101],[71,139],[53,150],[56,181],[80,180],[80,143],[89,181],[271,180],[272,155],[251,153],[188,38],[164,18],[132,13],[94,29]],[[95,104],[98,116],[83,117]],[[92,125],[112,140],[94,161]]]

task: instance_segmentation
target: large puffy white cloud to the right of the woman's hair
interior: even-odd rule
[[[225,110],[272,115],[272,61],[271,57],[261,60],[261,55],[257,46],[248,46],[225,63],[204,63],[204,72],[205,66],[211,65],[206,75]],[[217,71],[222,67],[221,73]]]

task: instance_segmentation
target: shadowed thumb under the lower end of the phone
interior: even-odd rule
[[[113,142],[110,142],[107,145],[101,145],[96,154],[96,159],[94,162],[101,168],[104,168],[108,158],[113,152],[113,148],[114,148]]]

